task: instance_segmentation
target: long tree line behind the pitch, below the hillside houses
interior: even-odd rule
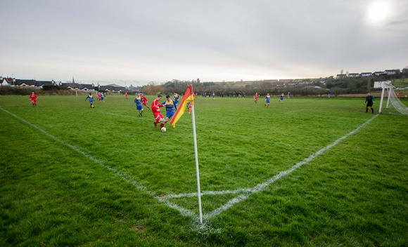
[[[233,81],[233,82],[200,82],[200,79],[192,81],[182,81],[173,79],[167,81],[165,84],[150,83],[143,87],[143,91],[146,94],[155,95],[162,93],[164,95],[172,95],[174,92],[183,94],[186,91],[187,84],[193,85],[193,91],[200,93],[207,93],[219,95],[224,93],[224,96],[229,93],[246,93],[246,95],[285,95],[291,92],[293,96],[319,96],[326,95],[329,91],[334,96],[340,94],[356,94],[367,93],[372,90],[374,81],[388,81],[393,79],[408,78],[408,69],[402,69],[400,74],[387,75],[381,74],[379,76],[367,76],[367,77],[345,77],[341,80],[333,78],[333,76],[319,78],[319,79],[302,79],[295,82],[281,82],[281,81]]]

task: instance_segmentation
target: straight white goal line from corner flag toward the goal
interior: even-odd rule
[[[375,116],[373,116],[371,119],[369,119],[368,121],[366,121],[365,123],[363,123],[362,125],[360,125],[359,127],[357,127],[354,131],[351,131],[350,133],[348,133],[347,135],[344,135],[341,138],[338,138],[338,140],[336,140],[335,142],[333,142],[331,145],[324,147],[322,149],[320,149],[318,152],[315,152],[314,154],[311,154],[309,157],[307,157],[306,159],[303,159],[302,161],[300,161],[299,163],[296,163],[295,166],[292,166],[290,169],[286,170],[286,171],[282,171],[281,173],[274,175],[274,177],[272,177],[271,179],[267,180],[266,182],[263,182],[262,184],[256,185],[255,187],[253,187],[252,189],[250,189],[250,192],[247,192],[245,194],[240,194],[238,196],[236,196],[234,199],[231,199],[230,201],[228,201],[227,203],[225,203],[224,205],[222,205],[219,208],[216,208],[214,211],[212,211],[211,213],[205,214],[203,215],[203,219],[208,220],[209,218],[212,218],[216,215],[219,215],[220,213],[222,213],[223,211],[226,211],[228,208],[231,208],[231,206],[234,206],[234,204],[243,201],[245,199],[247,199],[250,194],[252,193],[257,193],[257,192],[261,192],[262,190],[264,190],[267,186],[271,185],[272,183],[274,183],[276,180],[279,180],[279,178],[282,178],[283,176],[288,175],[289,173],[295,171],[297,168],[299,168],[300,166],[302,166],[303,164],[311,161],[312,159],[316,158],[317,156],[319,156],[320,154],[322,154],[323,152],[325,152],[328,149],[331,149],[331,147],[334,147],[338,144],[338,142],[341,142],[342,140],[344,140],[345,138],[348,138],[350,135],[356,133],[357,131],[359,131],[362,127],[366,126],[367,123],[369,123],[371,120],[375,119],[376,116],[378,116],[378,114],[376,114]]]

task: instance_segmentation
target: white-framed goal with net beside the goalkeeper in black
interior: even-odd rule
[[[387,114],[408,115],[408,107],[404,105],[395,94],[394,86],[391,81],[376,81],[378,87],[383,88],[381,93],[381,102],[378,112]],[[376,85],[374,87],[376,87]],[[386,102],[385,102],[386,101]]]

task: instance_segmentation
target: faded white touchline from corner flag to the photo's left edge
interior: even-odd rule
[[[137,189],[141,190],[141,192],[145,192],[146,194],[149,194],[149,195],[153,196],[155,199],[157,199],[158,201],[160,201],[160,203],[163,203],[166,206],[179,211],[181,213],[181,215],[189,216],[189,217],[193,218],[193,220],[195,220],[196,222],[200,221],[200,219],[198,218],[198,215],[196,215],[192,211],[189,211],[186,208],[182,208],[181,206],[178,206],[177,204],[171,203],[170,201],[166,201],[166,199],[162,198],[162,196],[156,196],[155,192],[151,192],[146,187],[139,184],[139,182],[136,182],[135,180],[133,180],[126,173],[124,173],[122,171],[119,171],[119,170],[117,170],[115,168],[111,168],[110,166],[107,166],[106,164],[103,163],[103,161],[101,161],[99,159],[96,159],[94,156],[91,156],[90,154],[87,154],[86,152],[79,149],[79,147],[75,147],[74,145],[70,145],[68,142],[64,142],[63,140],[60,140],[60,138],[57,138],[56,136],[53,136],[53,135],[49,134],[48,132],[44,131],[42,128],[39,128],[39,126],[36,126],[34,123],[30,123],[29,121],[26,121],[25,119],[20,118],[20,116],[17,116],[15,114],[11,113],[11,112],[8,112],[6,109],[3,109],[2,107],[0,107],[0,109],[2,109],[4,112],[10,114],[11,116],[14,116],[16,119],[18,119],[20,121],[23,121],[24,123],[27,123],[28,125],[30,125],[30,126],[32,126],[34,128],[37,128],[37,130],[41,131],[42,133],[47,135],[49,138],[51,138],[53,140],[56,140],[56,141],[62,143],[63,145],[68,146],[71,149],[74,149],[75,151],[79,152],[80,154],[86,156],[87,158],[95,161],[96,163],[98,163],[103,168],[107,168],[109,171],[112,171],[116,175],[120,176],[120,178],[122,178],[126,182],[129,182],[130,184],[134,185]]]

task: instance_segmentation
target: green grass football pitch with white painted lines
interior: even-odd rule
[[[408,246],[408,116],[196,99],[201,225],[191,115],[84,99],[0,97],[0,246]]]

